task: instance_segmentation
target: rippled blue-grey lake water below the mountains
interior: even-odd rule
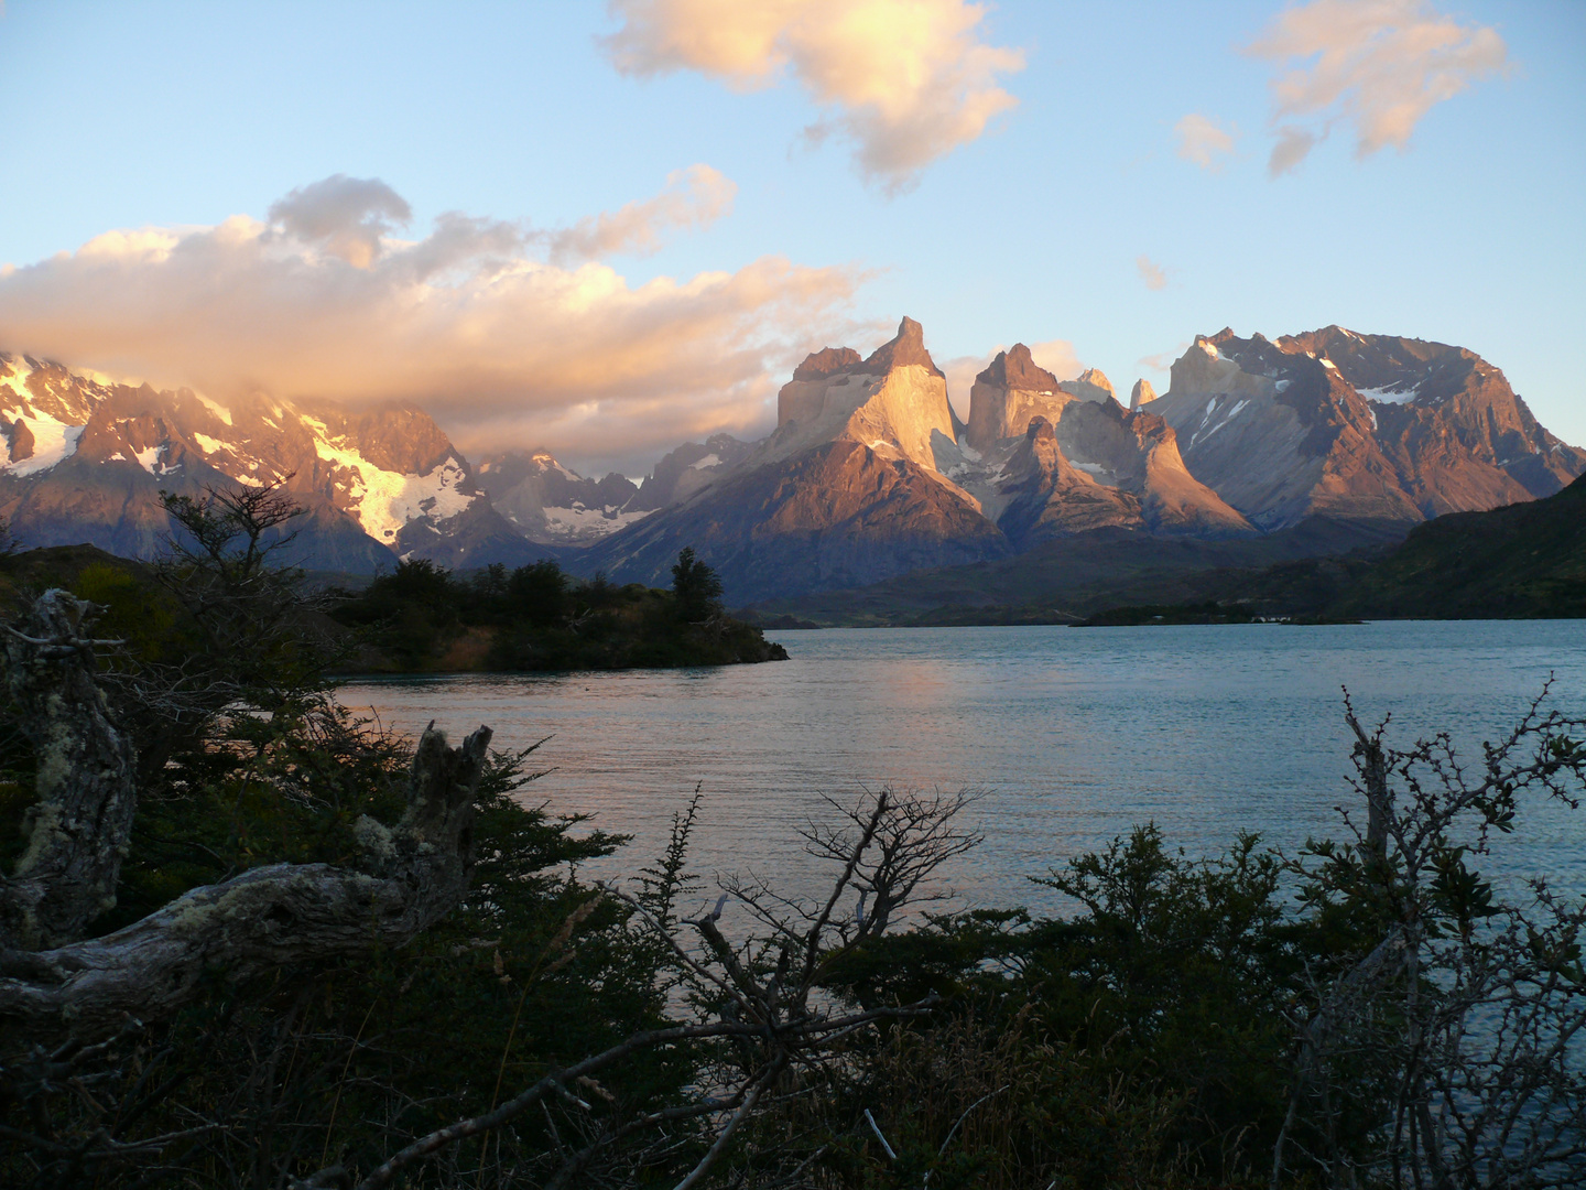
[[[525,790],[634,836],[634,871],[698,784],[695,866],[810,892],[796,830],[883,785],[974,787],[985,843],[945,873],[963,901],[1048,904],[1032,874],[1153,820],[1191,855],[1239,830],[1285,847],[1353,804],[1342,692],[1393,739],[1446,730],[1473,765],[1554,674],[1586,716],[1586,622],[776,631],[791,660],[660,673],[358,681],[349,706],[419,731],[542,736]],[[829,816],[829,812],[828,812]],[[1586,811],[1540,808],[1491,865],[1586,887]]]

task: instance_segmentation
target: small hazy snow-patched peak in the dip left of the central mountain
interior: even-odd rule
[[[633,506],[639,486],[626,476],[587,479],[544,447],[487,455],[476,474],[496,511],[539,544],[584,546],[646,514]]]

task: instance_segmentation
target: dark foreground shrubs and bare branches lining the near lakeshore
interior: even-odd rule
[[[1045,865],[1053,916],[933,900],[979,843],[966,793],[833,800],[803,831],[815,898],[706,887],[698,795],[595,884],[625,839],[547,814],[533,749],[335,701],[244,498],[155,568],[181,655],[95,639],[65,592],[3,633],[0,1184],[1586,1176],[1586,909],[1481,874],[1538,801],[1578,803],[1586,722],[1538,703],[1467,770],[1347,706],[1337,843],[1196,858],[1142,825]]]

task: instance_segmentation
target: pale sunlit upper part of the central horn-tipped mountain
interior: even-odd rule
[[[777,393],[777,428],[760,462],[853,441],[934,471],[933,438],[953,441],[960,427],[947,401],[947,376],[925,349],[920,324],[906,317],[898,335],[868,359],[855,363],[852,355],[826,347],[799,365]]]

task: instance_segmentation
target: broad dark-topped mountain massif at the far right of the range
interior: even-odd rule
[[[1142,408],[1262,530],[1315,514],[1412,524],[1551,495],[1586,470],[1475,352],[1342,327],[1201,336]]]

